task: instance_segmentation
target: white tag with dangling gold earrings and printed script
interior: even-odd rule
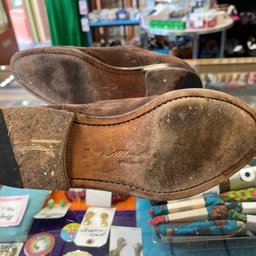
[[[115,208],[89,207],[75,237],[75,244],[81,247],[102,247],[106,244],[114,212]]]

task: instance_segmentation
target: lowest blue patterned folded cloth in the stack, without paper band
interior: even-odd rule
[[[183,224],[163,224],[154,227],[159,236],[231,236],[241,232],[245,224],[232,219]]]

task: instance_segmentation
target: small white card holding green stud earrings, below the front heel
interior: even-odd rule
[[[40,212],[34,215],[34,218],[62,218],[66,215],[69,207],[72,204],[67,204],[62,207],[61,205],[55,204],[54,207],[44,207]]]

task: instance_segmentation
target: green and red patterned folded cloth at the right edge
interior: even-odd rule
[[[219,195],[223,201],[256,201],[256,188],[228,191]]]

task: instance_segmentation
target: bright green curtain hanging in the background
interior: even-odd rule
[[[52,45],[86,46],[79,1],[45,0]]]

